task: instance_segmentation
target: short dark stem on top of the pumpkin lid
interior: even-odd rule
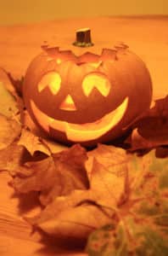
[[[78,47],[92,46],[91,30],[90,28],[81,28],[76,31],[76,42],[73,43]]]

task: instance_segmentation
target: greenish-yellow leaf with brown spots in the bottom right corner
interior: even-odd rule
[[[168,159],[154,150],[134,157],[130,195],[116,211],[118,223],[96,230],[87,242],[88,255],[162,255],[168,253]]]

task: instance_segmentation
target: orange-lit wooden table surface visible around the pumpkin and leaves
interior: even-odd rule
[[[143,58],[153,80],[154,99],[168,94],[168,17],[104,17],[1,26],[0,67],[12,73],[14,78],[20,78],[31,59],[41,51],[44,41],[70,49],[76,29],[88,26],[99,49],[111,42],[122,41]],[[2,80],[5,81],[6,77],[0,73]],[[48,242],[40,242],[38,234],[31,235],[31,226],[21,217],[19,201],[8,186],[9,180],[8,173],[0,172],[0,255],[85,255],[68,251],[56,253],[56,248]]]

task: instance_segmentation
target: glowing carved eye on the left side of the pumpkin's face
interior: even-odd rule
[[[53,93],[53,95],[56,95],[59,92],[60,84],[61,77],[59,73],[49,72],[42,77],[40,83],[38,84],[38,91],[41,92],[46,87],[48,87],[49,90],[51,90],[51,92]]]

